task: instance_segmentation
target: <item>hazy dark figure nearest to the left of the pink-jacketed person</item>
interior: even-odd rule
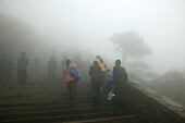
[[[54,81],[57,67],[58,67],[57,60],[54,57],[51,57],[51,59],[48,62],[48,79],[49,79],[49,82]]]

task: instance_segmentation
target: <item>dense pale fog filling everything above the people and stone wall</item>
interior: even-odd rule
[[[120,59],[131,78],[185,104],[184,22],[184,0],[0,0],[0,54],[44,66],[79,57],[85,75],[98,54],[111,70]]]

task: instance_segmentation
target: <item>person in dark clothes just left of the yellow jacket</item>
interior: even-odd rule
[[[90,66],[89,75],[91,77],[94,106],[97,106],[100,103],[100,87],[101,87],[101,67],[98,66],[97,61],[94,61],[94,64]]]

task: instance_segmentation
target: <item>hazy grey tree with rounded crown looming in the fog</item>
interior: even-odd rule
[[[128,57],[140,58],[151,54],[151,50],[144,42],[143,37],[135,32],[115,34],[111,41],[115,45],[116,51],[122,53],[123,63],[126,62]]]

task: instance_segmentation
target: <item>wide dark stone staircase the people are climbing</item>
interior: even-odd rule
[[[77,103],[69,103],[66,86],[61,83],[0,84],[1,123],[139,123],[134,110],[121,109],[116,99],[107,102],[101,94],[100,106],[92,106],[88,84],[78,84]]]

